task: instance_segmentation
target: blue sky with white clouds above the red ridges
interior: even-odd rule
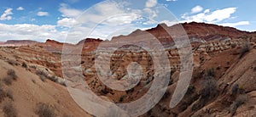
[[[110,39],[177,21],[256,31],[254,4],[254,0],[1,0],[0,42],[48,38],[65,42],[67,36],[72,40],[66,42],[73,43],[84,37]]]

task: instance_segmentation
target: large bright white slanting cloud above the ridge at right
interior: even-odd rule
[[[197,21],[197,22],[207,22],[207,23],[216,23],[222,20],[229,19],[231,17],[231,14],[234,14],[236,12],[236,8],[223,8],[218,9],[215,11],[210,11],[209,9],[206,9],[204,12],[201,12],[199,14],[183,14],[182,22],[191,22],[191,21]]]

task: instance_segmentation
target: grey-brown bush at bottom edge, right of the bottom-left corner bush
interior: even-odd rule
[[[46,103],[38,103],[35,113],[39,117],[55,117],[55,109]]]

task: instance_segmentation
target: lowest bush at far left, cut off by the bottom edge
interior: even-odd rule
[[[17,112],[12,103],[7,102],[3,105],[3,113],[5,117],[16,117]]]

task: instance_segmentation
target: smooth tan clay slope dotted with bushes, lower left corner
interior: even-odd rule
[[[12,85],[9,86],[9,89],[13,91],[13,103],[18,116],[37,116],[34,113],[37,103],[53,105],[58,116],[62,116],[62,114],[89,116],[73,101],[65,86],[49,80],[43,82],[38,75],[32,74],[21,66],[12,66],[1,59],[0,68],[1,79],[9,69],[15,70],[16,75],[18,75],[17,81],[13,81]],[[32,79],[36,83],[33,83]],[[3,116],[3,112],[0,113],[0,116]]]

